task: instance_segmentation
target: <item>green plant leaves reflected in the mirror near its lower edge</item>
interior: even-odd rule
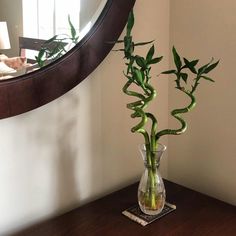
[[[70,16],[68,16],[68,24],[70,35],[54,35],[43,43],[38,56],[35,57],[40,68],[60,58],[78,43],[79,35],[71,22]]]

